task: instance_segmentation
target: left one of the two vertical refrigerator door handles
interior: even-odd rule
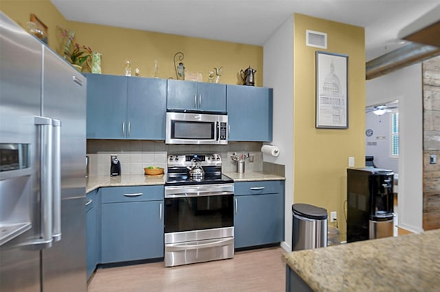
[[[41,127],[40,165],[41,165],[41,239],[33,241],[32,245],[52,246],[52,119],[34,117],[34,124]],[[43,247],[44,248],[44,247]]]

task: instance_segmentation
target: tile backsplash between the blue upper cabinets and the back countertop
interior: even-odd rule
[[[89,175],[110,175],[110,155],[116,154],[121,173],[140,174],[144,167],[166,168],[168,154],[217,153],[223,160],[223,171],[236,171],[230,155],[234,152],[254,155],[254,162],[245,161],[245,171],[263,170],[263,155],[259,142],[230,142],[228,145],[166,145],[164,141],[87,140]]]

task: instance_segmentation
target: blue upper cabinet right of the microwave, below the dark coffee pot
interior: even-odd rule
[[[272,141],[273,89],[228,85],[229,141]]]

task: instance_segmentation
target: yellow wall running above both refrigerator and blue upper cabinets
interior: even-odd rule
[[[30,20],[30,13],[36,14],[49,27],[49,45],[58,53],[62,40],[56,25],[72,29],[80,45],[102,53],[105,74],[124,75],[125,62],[131,60],[133,75],[139,68],[141,76],[152,77],[157,60],[159,77],[175,79],[173,56],[181,51],[186,71],[202,73],[203,82],[208,81],[213,67],[223,66],[220,83],[241,84],[240,70],[252,66],[257,71],[255,85],[263,85],[261,46],[66,21],[49,0],[1,0],[0,9],[22,27]]]

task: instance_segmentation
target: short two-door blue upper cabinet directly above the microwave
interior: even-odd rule
[[[168,80],[168,110],[226,111],[226,85]]]

